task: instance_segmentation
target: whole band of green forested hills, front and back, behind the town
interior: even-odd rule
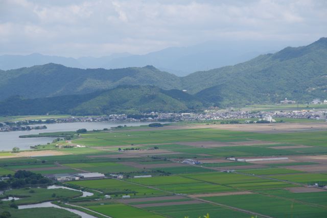
[[[142,86],[146,86],[147,88],[144,89],[147,91],[143,90]],[[125,87],[124,89],[129,87],[129,92],[122,91],[122,87]],[[106,91],[108,89],[110,91]],[[155,90],[157,94],[150,95],[149,90],[151,92]],[[177,93],[179,97],[172,97],[165,90],[175,90],[171,92]],[[102,92],[107,93],[107,97],[99,96]],[[130,99],[126,101],[127,103],[115,102],[110,96],[114,93],[115,99],[125,99],[126,95],[133,96],[133,92],[137,93],[139,99],[136,98],[135,101]],[[16,95],[21,97],[18,98]],[[320,38],[308,46],[287,47],[274,54],[260,55],[235,66],[199,71],[185,77],[177,77],[153,66],[83,70],[49,63],[0,71],[0,100],[3,100],[0,107],[10,105],[10,102],[18,105],[22,105],[20,102],[23,101],[29,102],[27,105],[33,104],[32,100],[26,98],[42,99],[34,99],[34,102],[60,102],[60,99],[64,101],[71,95],[79,96],[72,97],[75,99],[72,100],[74,105],[67,108],[71,112],[82,114],[109,113],[113,109],[106,108],[115,108],[116,105],[119,106],[114,111],[120,112],[159,110],[157,105],[162,108],[161,111],[170,111],[173,108],[174,111],[185,111],[198,110],[201,106],[209,105],[275,103],[285,97],[298,102],[309,102],[313,98],[325,99],[327,98],[327,38]],[[153,97],[155,99],[153,100],[152,97],[147,96],[157,97]],[[167,96],[174,100],[165,101],[164,99],[168,99]],[[147,104],[147,102],[151,103]],[[169,105],[164,107],[166,103],[174,107],[171,109]],[[94,109],[91,109],[92,105]],[[10,107],[6,108],[9,113]],[[49,112],[49,110],[45,111]]]

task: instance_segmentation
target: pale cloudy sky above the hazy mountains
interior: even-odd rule
[[[145,54],[205,41],[307,45],[326,0],[0,0],[0,54]]]

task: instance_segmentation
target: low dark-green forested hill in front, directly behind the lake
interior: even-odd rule
[[[90,94],[24,99],[11,97],[0,102],[3,115],[103,115],[149,112],[188,112],[203,109],[200,99],[180,90],[154,86],[119,86]]]

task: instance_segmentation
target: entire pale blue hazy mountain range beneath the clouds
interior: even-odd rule
[[[249,60],[268,51],[276,51],[274,45],[254,42],[217,42],[208,41],[191,47],[171,47],[145,55],[117,53],[99,58],[67,58],[42,54],[0,55],[0,69],[12,70],[33,67],[46,63],[62,64],[80,69],[116,69],[144,67],[147,65],[185,76],[196,71],[209,70]]]

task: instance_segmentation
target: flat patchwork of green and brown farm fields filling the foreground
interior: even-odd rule
[[[16,204],[60,200],[65,207],[101,218],[191,218],[206,213],[210,217],[325,217],[327,132],[315,129],[315,123],[301,122],[299,130],[296,122],[273,124],[282,129],[279,132],[267,125],[196,122],[87,132],[71,142],[57,142],[60,148],[51,143],[39,151],[3,152],[0,176],[17,170],[49,178],[62,173],[104,173],[104,178],[58,182],[94,193],[88,197],[66,189],[56,189],[52,197],[53,190],[37,187],[5,192],[24,197]],[[294,129],[289,131],[291,124]],[[68,143],[86,147],[65,147]],[[185,159],[200,164],[183,163]],[[123,195],[129,197],[123,199]],[[0,208],[9,205],[6,202]]]

